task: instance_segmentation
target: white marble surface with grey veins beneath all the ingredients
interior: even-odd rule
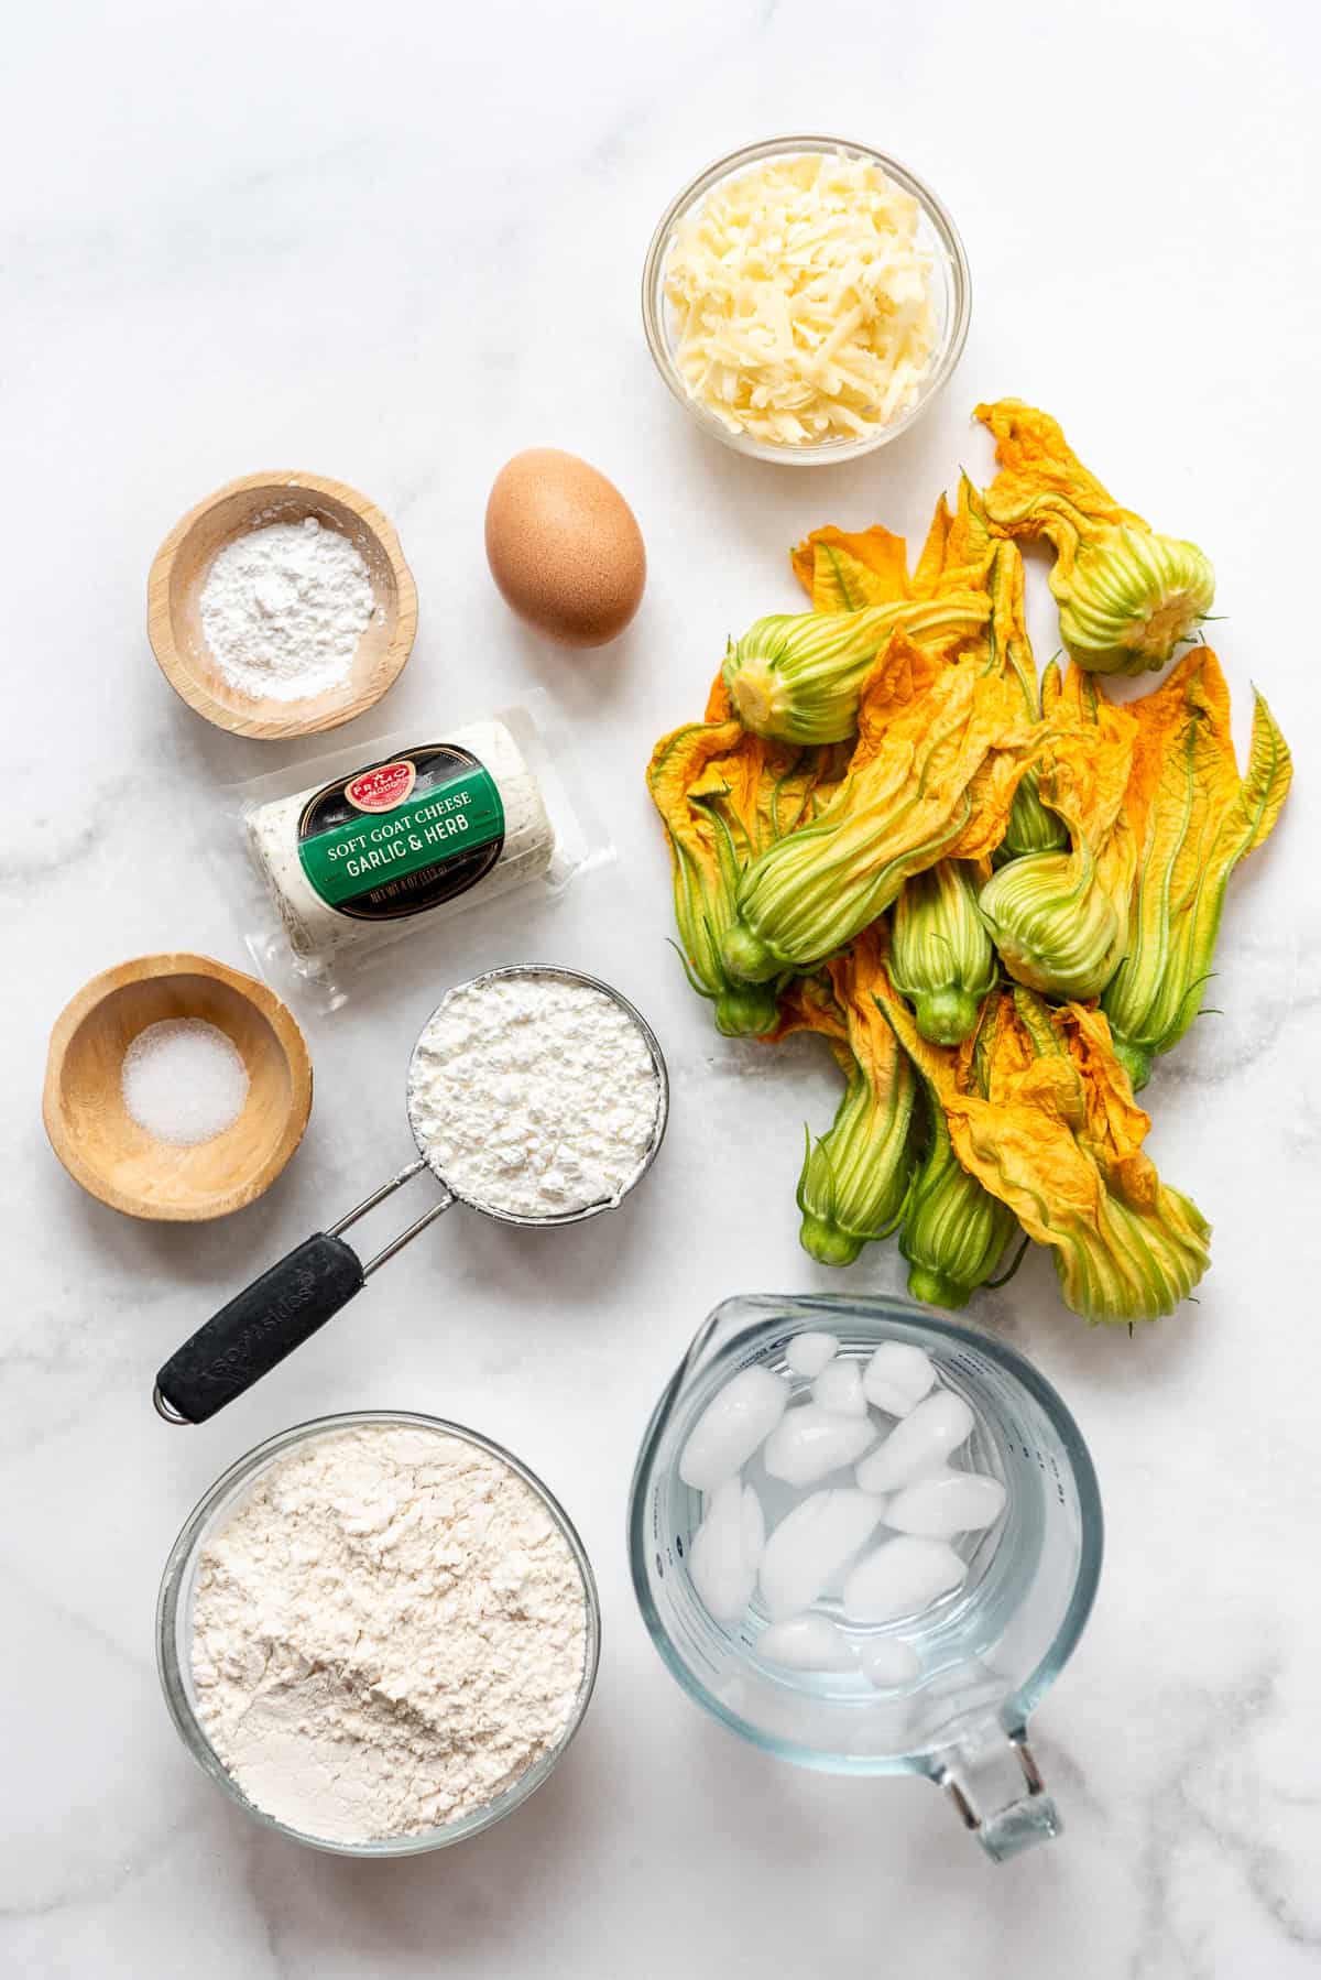
[[[1321,1968],[1319,57],[1295,0],[73,0],[6,24],[6,1974]],[[675,186],[794,127],[911,160],[974,267],[937,412],[818,475],[695,436],[638,323]],[[1299,784],[1232,889],[1224,1016],[1151,1087],[1155,1152],[1216,1224],[1200,1305],[1133,1340],[1089,1333],[1036,1259],[970,1311],[1064,1388],[1109,1517],[1093,1624],[1038,1717],[1067,1835],[992,1869],[933,1788],[800,1774],[707,1723],[644,1634],[622,1523],[707,1309],[826,1283],[792,1186],[830,1077],[806,1047],[772,1071],[723,1043],[685,992],[648,746],[697,711],[731,630],[792,608],[788,543],[917,529],[961,461],[986,467],[968,410],[1000,392],[1058,410],[1125,499],[1210,546],[1240,715],[1258,681]],[[586,659],[513,626],[481,556],[491,475],[537,442],[598,461],[648,537],[646,608]],[[186,505],[263,465],[343,475],[398,523],[422,632],[390,727],[533,683],[568,711],[620,865],[555,911],[469,919],[448,968],[537,954],[616,978],[669,1051],[673,1131],[620,1216],[545,1241],[452,1218],[259,1390],[170,1432],[149,1406],[164,1352],[408,1154],[404,1059],[440,988],[404,970],[313,1028],[307,1142],[230,1222],[125,1222],[46,1146],[46,1036],[87,976],[152,948],[242,960],[204,855],[220,784],[279,752],[174,701],[143,580]],[[848,1283],[897,1285],[897,1257]],[[402,1865],[250,1828],[178,1746],[152,1669],[156,1578],[198,1493],[269,1432],[362,1404],[525,1453],[604,1598],[600,1689],[555,1782],[483,1841]]]

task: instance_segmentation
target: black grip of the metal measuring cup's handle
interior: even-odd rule
[[[156,1376],[156,1410],[204,1424],[291,1354],[362,1291],[362,1259],[343,1238],[317,1232],[236,1293]]]

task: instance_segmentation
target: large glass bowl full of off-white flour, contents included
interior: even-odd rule
[[[489,1437],[364,1410],[242,1457],[184,1525],[156,1661],[267,1830],[355,1857],[479,1835],[559,1766],[600,1657],[572,1523]]]

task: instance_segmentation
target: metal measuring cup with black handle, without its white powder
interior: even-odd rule
[[[656,1160],[656,1150],[660,1148],[665,1135],[665,1121],[669,1119],[669,1073],[665,1069],[665,1059],[656,1040],[652,1026],[646,1018],[634,1010],[626,996],[620,996],[610,984],[600,982],[596,976],[584,976],[582,970],[562,970],[543,962],[509,964],[501,970],[485,970],[481,976],[469,976],[467,982],[456,984],[440,1000],[432,1016],[422,1026],[418,1040],[414,1043],[412,1055],[408,1059],[408,1069],[412,1073],[412,1061],[418,1053],[418,1045],[426,1036],[432,1018],[459,990],[473,990],[479,984],[497,982],[503,976],[549,976],[557,982],[584,984],[588,990],[598,990],[602,996],[618,1004],[622,1012],[636,1024],[642,1041],[646,1043],[652,1065],[656,1069],[656,1125],[652,1129],[652,1140],[648,1150],[638,1164],[634,1176],[618,1190],[614,1196],[606,1196],[600,1202],[584,1204],[582,1210],[564,1210],[557,1216],[545,1218],[523,1218],[509,1210],[495,1210],[491,1204],[477,1202],[473,1196],[465,1196],[463,1190],[456,1188],[438,1162],[428,1156],[422,1137],[418,1135],[416,1123],[412,1119],[412,1109],[408,1125],[412,1127],[412,1137],[418,1144],[418,1160],[408,1162],[400,1168],[396,1176],[382,1182],[378,1190],[364,1196],[349,1216],[343,1216],[339,1224],[333,1224],[329,1232],[317,1232],[307,1238],[301,1245],[263,1271],[259,1279],[236,1293],[234,1299],[212,1315],[204,1327],[184,1340],[180,1348],[170,1354],[168,1362],[160,1368],[156,1376],[156,1386],[152,1390],[152,1402],[156,1414],[164,1418],[166,1424],[204,1424],[208,1416],[216,1410],[224,1410],[226,1402],[234,1402],[242,1396],[246,1388],[259,1382],[263,1374],[269,1374],[277,1362],[291,1354],[293,1348],[301,1346],[319,1327],[325,1327],[341,1307],[362,1291],[366,1281],[374,1271],[380,1271],[396,1251],[402,1251],[418,1232],[424,1232],[428,1224],[442,1218],[446,1210],[454,1204],[465,1204],[469,1210],[481,1212],[481,1216],[495,1218],[499,1224],[517,1224],[523,1230],[545,1230],[555,1224],[582,1224],[586,1218],[600,1216],[602,1210],[614,1210],[624,1198],[634,1190],[648,1168]],[[412,1085],[412,1079],[410,1079]],[[345,1243],[343,1232],[358,1218],[364,1218],[368,1210],[382,1204],[386,1196],[394,1196],[402,1190],[406,1182],[430,1170],[440,1182],[440,1202],[432,1204],[430,1210],[410,1224],[408,1230],[400,1232],[398,1238],[390,1239],[374,1257],[366,1263],[358,1253]]]

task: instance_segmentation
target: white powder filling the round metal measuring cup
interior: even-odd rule
[[[658,1107],[656,1065],[628,1012],[555,976],[452,990],[408,1069],[408,1119],[432,1166],[521,1218],[620,1196]]]

